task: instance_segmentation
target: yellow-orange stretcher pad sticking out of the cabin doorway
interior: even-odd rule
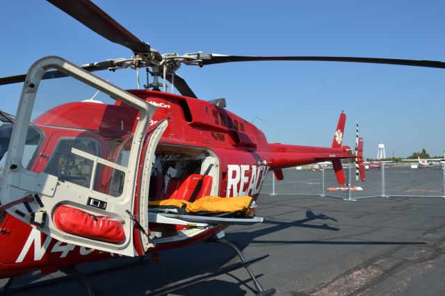
[[[163,199],[149,202],[150,208],[185,208],[186,213],[213,212],[227,213],[247,211],[252,204],[252,197],[202,197],[195,202],[179,199]]]

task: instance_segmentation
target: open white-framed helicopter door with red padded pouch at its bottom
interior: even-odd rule
[[[97,124],[97,130],[66,123],[69,112],[76,109],[72,107],[63,109],[65,113],[56,112],[61,107],[51,109],[47,117],[38,117],[40,124],[37,121],[30,125],[31,113],[36,111],[33,110],[35,97],[48,69],[57,69],[123,104],[99,106],[101,104],[76,102],[70,105],[77,110],[85,106],[104,110],[100,114],[81,116],[84,117],[81,124]],[[133,114],[133,122],[120,110]],[[145,134],[155,110],[147,102],[62,58],[50,56],[38,60],[29,69],[20,97],[3,170],[1,208],[57,240],[135,256],[136,179]],[[44,118],[52,121],[45,122]],[[75,120],[79,117],[72,121]],[[124,129],[124,126],[129,127]],[[42,144],[33,154],[35,165],[26,167],[22,163],[28,157],[26,145],[33,130],[42,134]],[[155,138],[149,138],[148,142],[157,144],[159,138]],[[42,163],[45,167],[35,170]]]

